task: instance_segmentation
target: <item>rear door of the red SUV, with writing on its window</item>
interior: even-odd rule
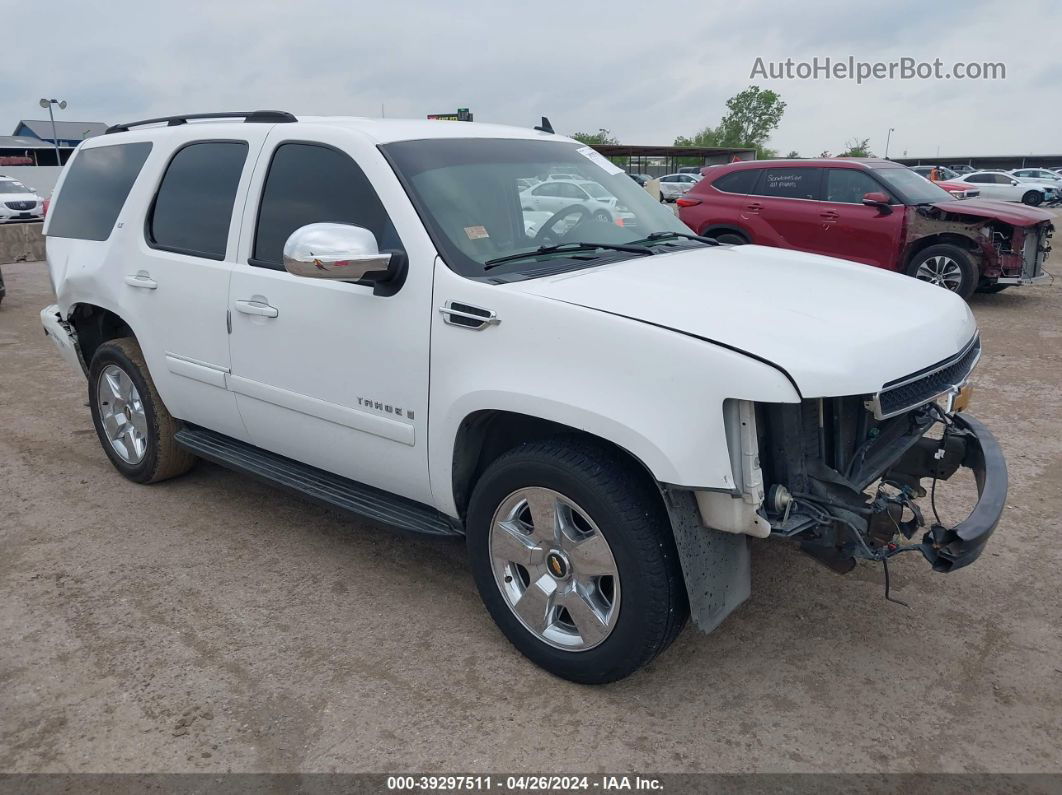
[[[822,169],[783,167],[763,169],[748,196],[741,220],[752,242],[802,252],[821,252],[826,218],[819,201]]]

